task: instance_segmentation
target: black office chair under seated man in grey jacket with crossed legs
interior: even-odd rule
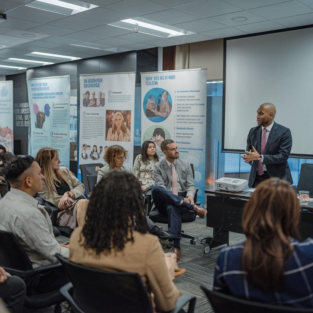
[[[191,169],[192,169],[192,176],[193,178],[195,177],[195,173],[194,173],[194,169],[193,169],[193,164],[190,164]],[[194,196],[194,202],[197,205],[200,205],[200,202],[197,202],[197,193],[198,193],[199,188],[196,188],[196,193]],[[149,214],[149,218],[154,222],[154,223],[162,223],[162,224],[167,224],[168,222],[168,218],[166,214],[161,214],[157,208],[152,209],[151,211],[151,207],[153,204],[153,199],[152,199],[152,194],[146,194],[146,198],[147,198],[147,202],[148,202],[148,214]],[[194,222],[196,220],[196,216],[197,214],[193,211],[188,211],[187,213],[183,213],[181,215],[182,218],[182,223],[190,223],[190,222]],[[182,238],[188,238],[190,239],[190,244],[195,244],[195,237],[185,234],[184,231],[182,230],[182,234],[181,234]]]

